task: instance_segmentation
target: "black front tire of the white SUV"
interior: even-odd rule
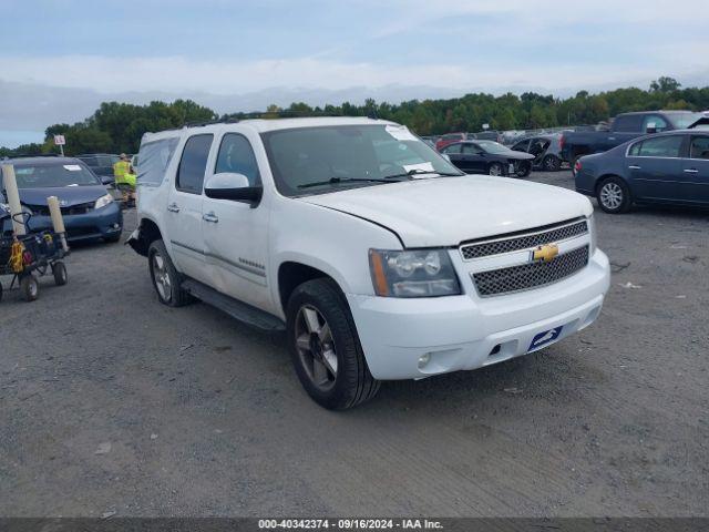
[[[320,335],[309,327],[307,330],[302,329],[304,325],[307,326],[301,323],[306,309],[316,310],[322,319],[322,329],[325,325],[329,327],[329,340],[320,341]],[[322,278],[298,286],[288,300],[286,316],[288,348],[296,374],[302,387],[318,405],[330,410],[345,410],[377,395],[380,382],[369,371],[352,315],[335,282]],[[306,338],[309,335],[312,349],[299,348],[298,337],[304,335]],[[319,348],[317,344],[320,345]],[[312,361],[316,358],[317,351],[320,360],[325,361],[327,351],[337,359],[336,371],[328,371],[326,383],[315,381],[315,362],[308,365],[308,360]],[[325,368],[325,365],[322,367]],[[331,368],[331,364],[329,367]]]

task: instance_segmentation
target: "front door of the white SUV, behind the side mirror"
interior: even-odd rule
[[[251,142],[240,133],[224,134],[216,162],[207,173],[243,174],[250,186],[261,186]],[[267,202],[264,197],[254,206],[230,200],[204,200],[203,232],[212,287],[261,309],[271,303],[266,270]]]

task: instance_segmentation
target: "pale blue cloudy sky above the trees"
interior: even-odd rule
[[[2,0],[0,145],[106,100],[399,102],[709,84],[706,0]]]

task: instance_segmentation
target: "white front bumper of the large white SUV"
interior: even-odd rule
[[[600,313],[609,283],[608,258],[596,250],[577,274],[516,294],[480,298],[466,290],[422,299],[348,294],[347,299],[372,376],[419,379],[525,355],[537,335],[559,326],[555,341],[587,327]],[[429,361],[420,366],[424,355]]]

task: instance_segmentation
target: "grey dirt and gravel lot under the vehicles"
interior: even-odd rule
[[[597,225],[593,327],[340,413],[281,337],[162,306],[144,258],[80,247],[69,286],[0,303],[0,515],[707,515],[709,216]]]

